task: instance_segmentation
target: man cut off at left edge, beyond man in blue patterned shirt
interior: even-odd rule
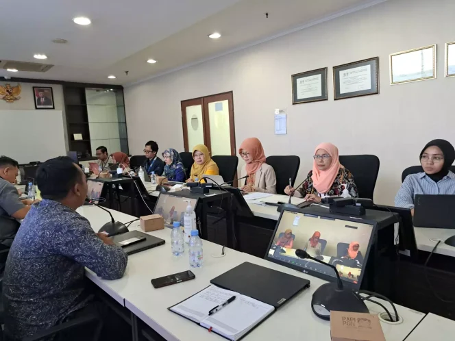
[[[10,246],[12,239],[2,240],[1,237],[13,237],[19,228],[20,220],[29,212],[32,200],[20,200],[19,192],[14,187],[19,164],[7,156],[0,157],[0,243]]]

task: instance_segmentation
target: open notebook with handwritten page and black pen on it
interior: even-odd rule
[[[236,296],[232,303],[223,307],[219,312],[208,316],[210,310],[223,304],[232,296]],[[236,341],[243,338],[251,329],[254,329],[272,314],[275,307],[238,292],[212,285],[185,301],[169,307],[169,310],[192,320],[201,327],[211,328],[212,332],[223,336],[223,338]]]

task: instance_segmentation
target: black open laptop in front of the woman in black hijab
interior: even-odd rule
[[[415,194],[414,226],[455,229],[455,195]]]

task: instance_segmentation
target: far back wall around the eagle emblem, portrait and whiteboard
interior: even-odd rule
[[[11,84],[11,86],[16,86],[16,81],[0,81],[1,86],[5,84]],[[68,146],[68,131],[66,131],[66,116],[65,116],[65,107],[63,100],[63,87],[60,84],[40,84],[40,83],[19,83],[21,84],[21,94],[19,95],[21,99],[19,101],[14,101],[13,103],[8,103],[6,101],[0,100],[0,110],[35,110],[35,95],[33,92],[34,86],[43,86],[45,88],[52,88],[53,92],[53,105],[55,110],[60,110],[62,112],[62,121],[63,121],[63,134],[64,134],[64,149],[69,150]],[[37,110],[40,112],[42,110]],[[25,128],[21,130],[25,134]],[[0,146],[0,155],[2,154],[2,148]],[[36,160],[29,160],[36,161]],[[40,160],[45,161],[45,160]]]

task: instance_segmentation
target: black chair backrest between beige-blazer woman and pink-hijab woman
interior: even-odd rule
[[[265,162],[275,170],[276,192],[278,194],[284,194],[284,188],[289,185],[289,178],[291,178],[291,184],[294,186],[295,178],[299,172],[300,157],[296,155],[274,155],[267,157]]]

